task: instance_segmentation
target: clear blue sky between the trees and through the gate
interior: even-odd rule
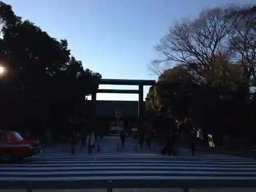
[[[51,36],[66,38],[72,54],[102,78],[157,79],[147,65],[154,46],[182,17],[204,8],[253,0],[6,0],[14,12]],[[100,89],[138,89],[100,86]],[[144,88],[144,95],[148,87]],[[138,100],[138,95],[97,94],[97,100]]]

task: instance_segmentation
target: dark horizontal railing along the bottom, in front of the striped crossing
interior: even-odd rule
[[[105,189],[105,191],[112,192],[116,189],[179,189],[178,191],[190,192],[190,189],[201,189],[200,191],[208,191],[212,189],[218,189],[217,191],[224,191],[230,188],[230,192],[234,191],[231,188],[240,188],[240,191],[256,191],[256,181],[255,180],[140,180],[140,179],[127,179],[127,180],[67,180],[67,181],[34,181],[34,182],[24,182],[24,181],[1,181],[0,191],[6,190],[26,190],[26,192],[33,192],[34,190],[45,190],[46,192],[54,189]],[[114,189],[114,190],[113,190]],[[148,191],[148,190],[147,190]],[[177,190],[175,190],[177,191]]]

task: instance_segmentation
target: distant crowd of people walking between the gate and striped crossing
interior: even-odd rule
[[[194,127],[191,127],[191,133],[189,135],[189,148],[191,155],[195,155],[196,151],[196,137],[195,132],[196,130]],[[194,133],[193,133],[194,132]],[[25,134],[26,138],[30,138],[30,134]],[[117,133],[118,137],[120,138],[120,147],[125,146],[125,141],[128,137],[127,133],[124,130],[120,130]],[[148,149],[152,148],[152,141],[155,136],[155,132],[152,128],[148,129],[147,131],[136,131],[133,133],[133,139],[136,141],[136,148],[137,145],[141,148],[145,145]],[[87,148],[88,154],[92,154],[94,148],[97,148],[97,151],[100,151],[100,145],[98,142],[98,145],[95,146],[95,141],[98,139],[101,140],[103,138],[102,134],[95,134],[93,131],[87,132],[87,133],[81,133],[78,131],[73,131],[71,135],[67,137],[59,136],[57,141],[62,143],[67,143],[67,141],[70,141],[71,145],[71,153],[75,154],[76,150],[83,151],[84,148]],[[177,136],[176,132],[173,132],[170,130],[169,134],[165,134],[165,138],[162,138],[162,148],[161,148],[161,154],[162,155],[168,155],[168,156],[176,156],[178,155],[177,150],[177,144],[178,144],[179,136]],[[52,135],[51,132],[45,133],[45,138],[42,140],[43,143],[52,143]],[[54,141],[56,142],[56,141]],[[118,144],[117,144],[118,145]],[[119,147],[119,146],[117,146]]]

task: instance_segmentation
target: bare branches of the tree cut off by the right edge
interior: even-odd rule
[[[233,37],[229,49],[234,60],[243,67],[243,80],[256,78],[256,7],[234,8],[232,12]]]

